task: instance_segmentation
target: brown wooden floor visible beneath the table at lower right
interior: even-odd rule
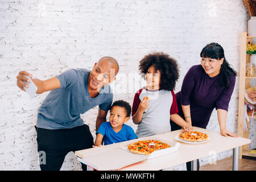
[[[218,160],[216,164],[200,166],[200,171],[232,171],[233,157]],[[242,158],[239,160],[239,171],[256,171],[256,158]]]

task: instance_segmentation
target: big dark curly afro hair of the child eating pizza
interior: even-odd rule
[[[174,90],[176,81],[179,78],[177,61],[163,52],[149,53],[139,62],[139,71],[143,77],[145,77],[147,70],[151,65],[161,73],[160,89],[169,91]]]

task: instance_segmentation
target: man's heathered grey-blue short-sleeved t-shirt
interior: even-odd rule
[[[36,127],[71,129],[84,125],[80,114],[97,105],[108,111],[113,101],[110,86],[106,85],[97,97],[91,98],[87,87],[89,74],[87,69],[68,69],[56,76],[60,80],[60,88],[51,90],[39,107]]]

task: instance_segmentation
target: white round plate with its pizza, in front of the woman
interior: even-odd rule
[[[179,142],[184,142],[184,143],[204,143],[209,140],[209,137],[205,133],[201,133],[199,131],[189,131],[185,133],[181,133],[175,137],[175,140]]]

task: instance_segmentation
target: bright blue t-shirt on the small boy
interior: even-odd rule
[[[110,122],[101,123],[101,126],[98,128],[96,132],[102,134],[104,145],[118,143],[118,142],[125,142],[127,140],[133,140],[137,138],[137,135],[134,133],[134,130],[128,126],[123,124],[123,127],[118,133],[115,133]]]

